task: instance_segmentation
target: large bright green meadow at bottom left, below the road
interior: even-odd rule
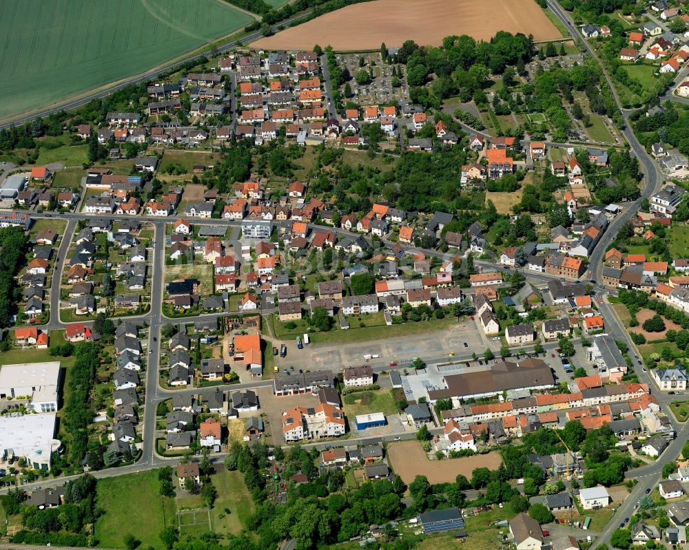
[[[158,471],[149,470],[138,474],[127,474],[98,480],[96,487],[98,507],[104,514],[95,525],[99,544],[109,548],[123,548],[124,537],[132,533],[140,546],[156,550],[163,549],[158,538],[166,525],[176,525],[176,518],[165,513],[165,500],[158,495]],[[136,503],[136,513],[132,513]]]

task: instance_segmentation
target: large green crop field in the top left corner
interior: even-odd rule
[[[251,23],[220,0],[2,0],[0,118],[145,72]]]

